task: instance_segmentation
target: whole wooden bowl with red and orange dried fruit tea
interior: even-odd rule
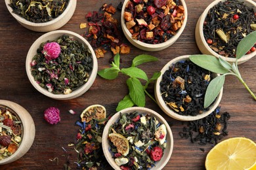
[[[171,46],[180,37],[188,18],[184,0],[125,0],[121,27],[131,44],[146,51]]]

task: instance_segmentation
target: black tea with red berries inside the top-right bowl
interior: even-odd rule
[[[243,1],[219,2],[209,10],[203,35],[209,47],[221,56],[236,58],[238,43],[256,30],[256,15]],[[255,51],[255,46],[247,54]]]

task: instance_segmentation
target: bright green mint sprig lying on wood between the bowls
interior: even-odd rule
[[[133,107],[134,105],[145,107],[146,95],[148,95],[148,97],[156,102],[154,97],[152,97],[152,95],[146,91],[146,88],[148,88],[148,84],[158,79],[158,77],[161,75],[161,72],[156,72],[151,78],[148,78],[146,73],[137,67],[142,63],[151,61],[158,61],[158,58],[142,54],[133,59],[131,67],[120,69],[120,56],[119,54],[116,54],[116,56],[114,56],[114,61],[110,64],[112,67],[98,71],[98,75],[108,80],[114,80],[117,78],[119,73],[129,76],[129,78],[126,80],[127,86],[129,88],[129,94],[125,95],[125,97],[119,101],[116,108],[117,111],[128,107]],[[146,83],[142,85],[140,79],[145,80]]]

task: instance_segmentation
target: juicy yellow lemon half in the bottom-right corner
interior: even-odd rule
[[[256,169],[256,144],[245,137],[226,139],[214,146],[205,160],[207,170]]]

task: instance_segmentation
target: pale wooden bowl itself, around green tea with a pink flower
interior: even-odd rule
[[[83,43],[85,46],[89,48],[89,50],[91,51],[91,57],[93,58],[93,70],[89,72],[89,80],[85,84],[77,88],[77,90],[74,90],[74,92],[71,92],[69,94],[54,94],[44,88],[41,88],[41,86],[39,86],[39,84],[35,82],[31,74],[30,63],[32,62],[33,56],[37,54],[37,48],[39,48],[42,42],[58,39],[58,37],[61,37],[62,35],[68,35],[70,37],[74,37],[76,41]],[[78,35],[77,33],[74,33],[72,31],[56,30],[56,31],[51,31],[49,33],[45,33],[44,35],[39,37],[35,42],[33,42],[32,46],[30,47],[30,50],[28,51],[28,55],[26,58],[26,72],[34,88],[39,92],[43,93],[44,95],[47,95],[48,97],[51,97],[53,99],[58,99],[58,100],[74,99],[75,97],[79,97],[83,93],[87,92],[87,90],[91,88],[91,86],[93,85],[93,82],[95,81],[97,71],[98,71],[98,62],[95,56],[95,52],[93,51],[93,48],[91,47],[89,42],[87,42],[83,37],[81,37],[81,35]]]

